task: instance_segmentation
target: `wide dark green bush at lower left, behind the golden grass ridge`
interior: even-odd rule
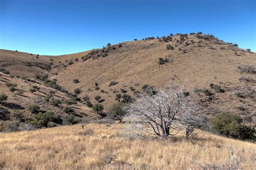
[[[56,115],[52,112],[38,113],[35,115],[35,120],[29,121],[36,128],[42,127],[53,127],[57,124],[62,124],[62,119],[60,119],[59,115]]]

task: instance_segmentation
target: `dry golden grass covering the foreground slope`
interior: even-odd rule
[[[203,165],[231,164],[243,157],[241,168],[255,167],[255,144],[208,133],[185,140],[182,134],[170,140],[126,138],[126,124],[86,124],[37,131],[0,133],[0,168],[95,169],[145,168],[189,169]],[[89,130],[90,129],[90,130]],[[91,131],[92,130],[92,131]]]

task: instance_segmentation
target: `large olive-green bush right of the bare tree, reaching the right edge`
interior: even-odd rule
[[[248,126],[241,125],[242,118],[234,113],[220,113],[210,120],[214,131],[227,137],[242,140],[255,140],[255,130]]]

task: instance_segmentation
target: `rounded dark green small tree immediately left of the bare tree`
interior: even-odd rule
[[[118,104],[114,104],[110,110],[107,112],[107,115],[114,119],[114,120],[118,120],[120,123],[123,120],[124,115],[127,113],[126,110],[124,109],[124,104],[122,103],[118,103]]]

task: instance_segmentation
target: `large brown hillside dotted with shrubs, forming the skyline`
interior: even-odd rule
[[[144,85],[159,88],[181,84],[197,94],[207,119],[233,112],[255,127],[256,54],[214,36],[149,37],[72,55],[38,58],[28,53],[0,52],[0,66],[10,74],[29,79],[47,74],[69,92],[82,90],[78,97],[87,95],[92,104],[98,103],[94,98],[100,96],[105,112],[117,103],[116,94],[136,99]],[[161,60],[159,64],[160,57],[167,62]],[[78,83],[73,83],[74,79]],[[109,86],[112,80],[118,84]]]

